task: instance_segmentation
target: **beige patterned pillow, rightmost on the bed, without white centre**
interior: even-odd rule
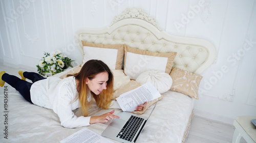
[[[176,67],[170,72],[170,76],[173,79],[173,85],[170,90],[199,99],[198,88],[203,76]]]

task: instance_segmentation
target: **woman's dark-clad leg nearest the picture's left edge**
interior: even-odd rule
[[[27,101],[32,103],[30,98],[30,88],[32,83],[22,80],[14,75],[9,75],[4,73],[2,75],[2,80],[10,84],[14,89],[16,89]]]

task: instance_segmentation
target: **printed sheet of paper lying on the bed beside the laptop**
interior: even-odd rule
[[[60,143],[112,143],[113,141],[108,140],[101,135],[83,128],[67,138],[60,141]]]

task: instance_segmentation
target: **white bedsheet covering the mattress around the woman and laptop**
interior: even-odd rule
[[[89,128],[101,134],[107,124],[93,124],[88,127],[68,129],[60,125],[58,116],[50,109],[42,108],[25,101],[10,85],[8,86],[8,107],[4,112],[4,88],[0,88],[1,126],[0,142],[59,142],[82,128]],[[183,133],[194,106],[194,99],[173,91],[167,91],[146,124],[137,142],[181,142]],[[143,116],[148,116],[148,108]],[[112,109],[90,109],[90,116],[101,115]],[[119,109],[115,114],[120,112]],[[8,117],[4,117],[8,113]],[[7,122],[3,122],[7,121]],[[5,125],[4,123],[8,123]],[[8,139],[4,138],[8,126]],[[113,140],[114,141],[114,140]],[[114,141],[117,142],[117,141]]]

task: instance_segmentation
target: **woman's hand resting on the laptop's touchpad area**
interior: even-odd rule
[[[115,112],[115,110],[113,110],[111,112],[104,113],[103,115],[100,115],[100,116],[91,117],[90,124],[106,123],[110,119],[114,119],[114,118],[118,118],[119,119],[120,117],[113,115],[114,112]]]

